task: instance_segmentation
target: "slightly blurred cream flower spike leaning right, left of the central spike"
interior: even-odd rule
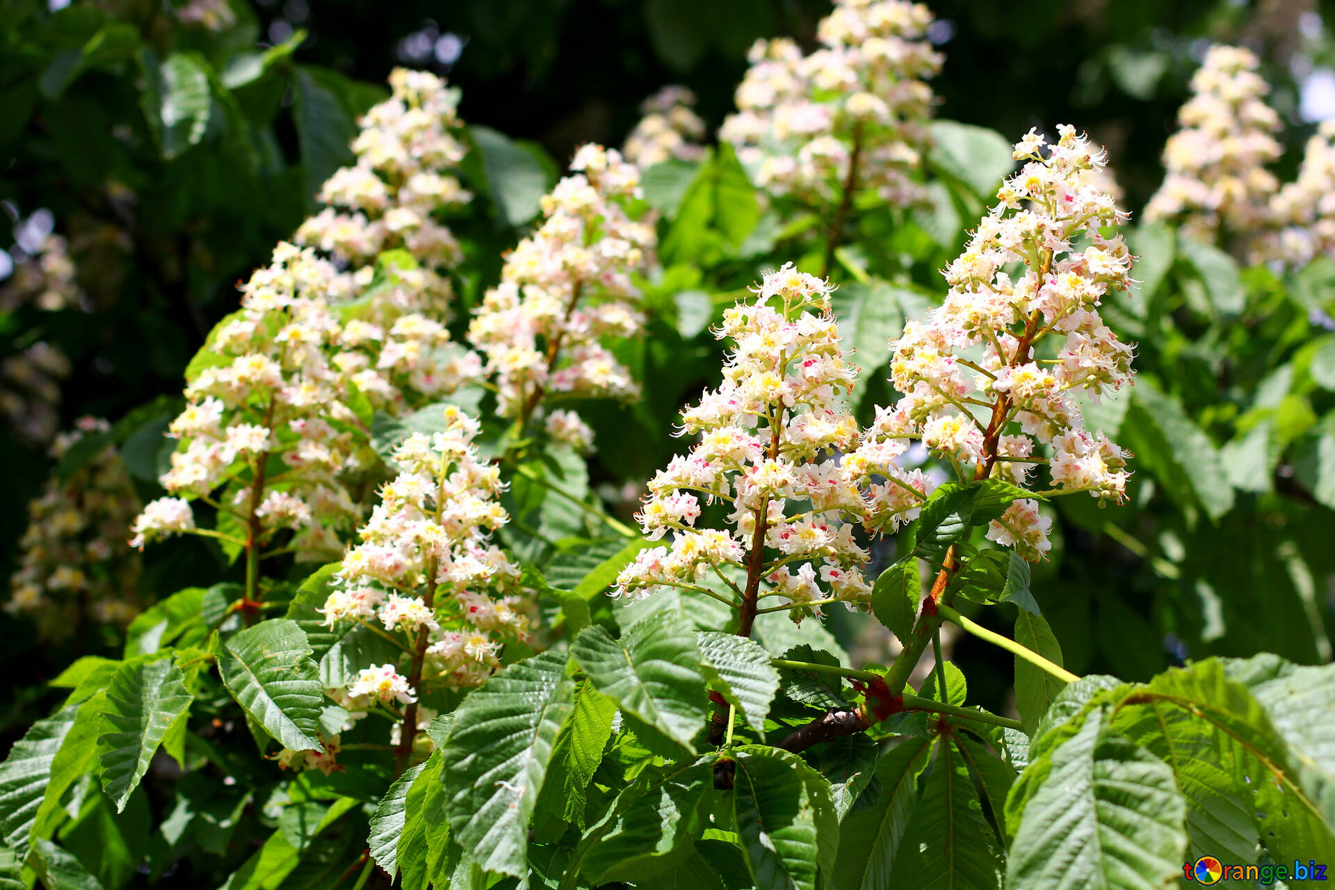
[[[638,392],[602,339],[643,327],[631,275],[646,267],[655,238],[653,220],[630,212],[639,171],[593,144],[570,168],[575,173],[543,196],[542,226],[506,258],[501,284],[469,328],[495,375],[501,414],[521,426],[559,396]]]

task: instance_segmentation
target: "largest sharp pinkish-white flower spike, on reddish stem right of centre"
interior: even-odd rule
[[[877,408],[845,459],[850,480],[918,439],[961,479],[1025,487],[1033,468],[1047,464],[1055,488],[1044,496],[1124,499],[1129,455],[1084,427],[1075,396],[1097,400],[1132,380],[1132,347],[1099,316],[1104,296],[1131,282],[1132,259],[1121,235],[1104,236],[1100,227],[1127,216],[1091,184],[1088,171],[1105,163],[1103,149],[1073,127],[1057,131],[1056,143],[1029,131],[1016,144],[1024,167],[945,270],[945,302],[890,343],[902,398]],[[1013,263],[1023,264],[1019,272],[1007,271]],[[1039,446],[1052,456],[1040,456]],[[873,527],[902,522],[905,506],[929,494],[922,478],[890,480],[893,487],[872,492]],[[988,538],[1033,560],[1051,547],[1049,527],[1037,502],[1023,499],[991,524]]]

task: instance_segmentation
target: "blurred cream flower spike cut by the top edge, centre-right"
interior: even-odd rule
[[[912,203],[933,101],[924,79],[941,68],[925,40],[930,23],[926,7],[905,0],[837,0],[816,52],[786,37],[757,41],[720,139],[774,195],[828,201],[856,179],[885,201]]]

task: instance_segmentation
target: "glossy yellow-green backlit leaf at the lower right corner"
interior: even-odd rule
[[[1319,709],[1307,718],[1316,721],[1316,734],[1335,731],[1335,719],[1322,719]],[[1276,861],[1335,850],[1324,770],[1286,743],[1223,662],[1196,662],[1135,687],[1117,706],[1113,726],[1172,763],[1191,805],[1193,849],[1224,842],[1246,850],[1254,837],[1242,821],[1246,813]]]

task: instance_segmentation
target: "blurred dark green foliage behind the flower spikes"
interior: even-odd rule
[[[1088,129],[1108,147],[1133,212],[1163,177],[1164,140],[1210,43],[1243,43],[1263,59],[1270,101],[1287,125],[1280,179],[1292,179],[1315,121],[1335,115],[1331,1],[930,5],[932,39],[945,55],[932,81],[937,116],[995,129],[1007,141],[1035,125],[1051,132],[1071,121]],[[543,171],[545,189],[577,145],[619,144],[641,100],[665,84],[690,87],[700,113],[717,127],[733,109],[748,47],[757,37],[792,35],[810,48],[828,12],[818,0],[53,7],[60,4],[0,5],[0,243],[15,244],[9,260],[0,256],[0,272],[8,276],[39,254],[55,230],[77,255],[77,295],[56,310],[0,310],[0,359],[37,343],[57,347],[69,360],[55,375],[57,426],[105,416],[120,420],[116,442],[138,435],[154,447],[162,427],[144,434],[146,423],[171,414],[187,362],[235,307],[236,280],[291,235],[318,184],[347,161],[355,119],[384,95],[394,65],[447,75],[462,88],[461,116],[475,127],[474,140],[490,131],[519,140],[514,144]],[[964,163],[939,156],[936,172],[968,180],[972,159],[967,151],[955,157]],[[473,217],[455,226],[470,258],[466,302],[494,282],[501,252],[527,219],[507,212],[503,176],[494,168],[474,172],[470,185],[487,191],[490,183],[493,200],[478,201]],[[659,196],[669,230],[676,213],[688,212],[681,188],[694,175],[694,167],[686,169],[686,179]],[[934,270],[956,255],[964,226],[988,197],[985,188],[967,185],[960,193],[972,189],[973,197],[957,197],[945,231],[933,234],[934,247],[914,242],[921,227],[896,227],[888,211],[860,221],[852,256],[868,263],[872,278],[858,283],[866,270],[836,268],[846,284],[844,310],[858,311],[869,294],[894,307],[858,323],[860,343],[894,334],[904,315],[940,299]],[[754,226],[750,219],[748,231]],[[1144,383],[1133,399],[1103,408],[1137,452],[1133,508],[1100,511],[1084,499],[1061,499],[1059,543],[1033,579],[1067,666],[1144,679],[1212,652],[1268,650],[1328,660],[1335,340],[1327,328],[1335,327],[1335,267],[1327,259],[1295,275],[1242,270],[1218,251],[1181,247],[1163,228],[1139,230],[1132,242],[1147,282],[1113,323],[1140,342]],[[665,246],[665,254],[669,280],[650,299],[672,311],[654,322],[634,356],[647,407],[590,408],[591,416],[602,412],[597,426],[630,430],[599,435],[606,444],[595,482],[643,478],[662,466],[677,443],[653,428],[653,419],[672,418],[717,375],[712,344],[696,336],[702,324],[684,323],[673,292],[712,291],[717,310],[758,268],[784,258],[773,239],[768,251],[750,254],[736,246],[722,255],[690,247],[673,255]],[[690,268],[704,279],[684,271]],[[893,288],[876,290],[889,287],[881,279]],[[864,412],[877,396],[889,398],[884,383],[866,392]],[[52,468],[40,439],[11,424],[0,442],[8,471],[0,511],[5,574],[17,558],[24,504]],[[160,454],[142,451],[127,447],[127,462],[148,498]],[[613,464],[618,472],[609,472]],[[146,596],[172,592],[187,574],[188,583],[202,583],[198,567],[210,559],[206,548],[190,546],[155,554],[142,582]],[[23,619],[4,615],[0,624],[12,681],[0,694],[8,738],[43,694],[29,685],[49,678],[73,650],[37,643]],[[834,627],[845,644],[858,643],[849,622],[836,619]],[[97,644],[68,642],[80,651]],[[861,646],[868,658],[889,660],[877,640]],[[991,658],[968,640],[956,650],[965,663],[985,667]],[[981,703],[1003,706],[1009,670],[968,674]],[[996,677],[991,687],[988,677]]]

